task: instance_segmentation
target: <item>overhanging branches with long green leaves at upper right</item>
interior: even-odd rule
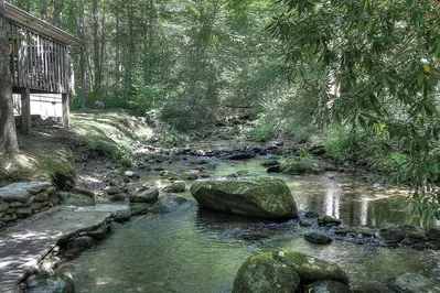
[[[440,7],[426,0],[281,0],[269,30],[282,44],[290,76],[319,80],[329,120],[405,140],[405,174],[425,215],[440,218]]]

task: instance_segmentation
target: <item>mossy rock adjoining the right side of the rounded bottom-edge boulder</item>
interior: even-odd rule
[[[301,282],[312,283],[321,280],[334,280],[348,284],[348,276],[336,263],[291,250],[275,251],[273,259],[296,271]]]

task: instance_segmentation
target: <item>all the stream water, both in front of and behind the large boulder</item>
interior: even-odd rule
[[[167,165],[186,172],[190,164]],[[246,170],[265,174],[257,160],[222,163],[216,176]],[[267,175],[267,174],[266,174]],[[341,173],[289,176],[285,180],[300,210],[341,218],[347,226],[383,227],[405,223],[410,214],[398,191]],[[141,182],[154,181],[143,174]],[[187,193],[183,196],[191,195]],[[273,224],[200,208],[135,218],[72,267],[77,292],[230,292],[245,259],[258,251],[293,249],[339,263],[352,284],[377,283],[405,272],[440,276],[440,253],[382,248],[335,240],[330,246],[303,240],[307,228],[294,221]]]

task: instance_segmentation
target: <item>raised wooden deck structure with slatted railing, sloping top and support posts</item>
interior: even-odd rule
[[[21,95],[23,133],[31,131],[31,95],[58,94],[63,126],[68,128],[68,99],[73,91],[73,70],[68,48],[82,40],[6,2],[9,23],[9,56],[12,93]]]

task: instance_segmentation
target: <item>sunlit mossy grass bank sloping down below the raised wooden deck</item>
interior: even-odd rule
[[[20,153],[0,162],[0,186],[20,181],[76,177],[82,185],[99,182],[108,162],[128,164],[128,154],[153,134],[144,120],[124,110],[71,115],[71,128],[56,122],[33,123],[32,133],[18,133]],[[63,187],[63,186],[58,186]]]

